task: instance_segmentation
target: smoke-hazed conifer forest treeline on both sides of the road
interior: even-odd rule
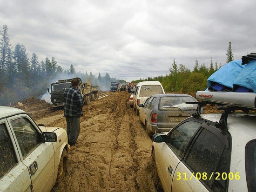
[[[232,60],[231,42],[226,53],[227,58]],[[230,57],[231,55],[231,57]],[[227,59],[228,62],[228,59]],[[169,68],[169,74],[159,77],[148,77],[134,80],[138,83],[143,80],[158,80],[162,83],[166,92],[193,93],[204,90],[207,86],[207,78],[221,67],[217,62],[211,60],[209,67],[206,64],[199,65],[195,61],[193,70],[183,64],[177,65],[173,60]],[[80,77],[84,82],[90,80],[92,85],[98,85],[100,90],[109,90],[111,82],[127,84],[123,79],[111,78],[106,72],[97,76],[91,72],[88,74],[76,72],[71,64],[68,70],[64,70],[54,57],[39,61],[36,53],[28,58],[24,45],[17,43],[14,47],[10,45],[7,25],[0,32],[0,105],[7,106],[11,102],[17,102],[24,98],[35,97],[40,99],[47,92],[47,87],[58,79],[71,79]]]

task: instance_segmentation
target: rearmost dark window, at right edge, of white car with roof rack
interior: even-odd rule
[[[256,191],[256,140],[249,142],[245,154],[246,180],[249,192]]]

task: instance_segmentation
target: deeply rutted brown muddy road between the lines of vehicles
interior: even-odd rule
[[[67,172],[53,192],[155,192],[152,141],[129,107],[127,92],[113,92],[83,107],[81,132],[67,160]],[[38,124],[66,128],[63,109],[23,100]]]

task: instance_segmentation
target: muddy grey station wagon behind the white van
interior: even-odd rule
[[[197,104],[186,104],[188,101],[197,102],[191,95],[165,93],[152,95],[144,104],[140,104],[140,121],[148,135],[168,132],[195,113]]]

